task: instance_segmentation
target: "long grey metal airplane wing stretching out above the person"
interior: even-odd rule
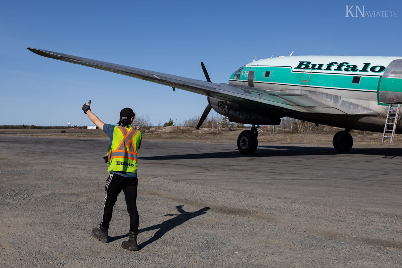
[[[92,67],[95,69],[123,74],[134,78],[155,82],[158,84],[179,88],[218,98],[252,106],[255,108],[265,108],[287,111],[287,112],[301,112],[301,113],[323,113],[323,114],[359,114],[359,115],[377,115],[377,112],[353,104],[345,100],[341,100],[339,96],[326,94],[329,96],[321,95],[310,96],[306,91],[301,90],[287,90],[286,92],[269,91],[259,88],[251,88],[247,86],[234,86],[230,84],[216,84],[207,81],[201,81],[192,78],[185,78],[181,76],[174,76],[171,74],[164,74],[129,66],[97,61],[94,59],[87,59],[73,55],[66,55],[53,51],[41,50],[28,47],[28,49],[38,55],[67,61],[79,65]],[[313,94],[317,94],[313,93]],[[320,93],[318,93],[320,94]]]

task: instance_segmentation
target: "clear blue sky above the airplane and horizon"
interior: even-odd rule
[[[345,17],[346,5],[398,17]],[[0,125],[91,125],[81,110],[89,99],[106,123],[117,123],[124,107],[157,125],[207,105],[202,95],[26,47],[200,80],[203,61],[213,82],[227,83],[253,56],[402,56],[401,22],[399,1],[3,1]]]

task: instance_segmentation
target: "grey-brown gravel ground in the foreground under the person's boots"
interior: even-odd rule
[[[139,174],[139,251],[121,248],[123,193],[109,243],[104,168],[0,154],[2,267],[402,267],[401,217]]]

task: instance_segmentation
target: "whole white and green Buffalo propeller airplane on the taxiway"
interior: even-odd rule
[[[345,129],[334,135],[339,152],[353,146],[352,129],[383,132],[388,107],[402,103],[402,57],[379,56],[278,56],[248,63],[236,70],[228,84],[164,74],[28,47],[52,59],[163,84],[207,96],[208,105],[229,121],[252,125],[240,133],[240,153],[252,155],[258,145],[259,125],[279,125],[290,117]],[[293,53],[293,52],[292,52]],[[395,133],[402,133],[396,117]]]

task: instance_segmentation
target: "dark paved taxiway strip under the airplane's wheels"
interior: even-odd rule
[[[0,137],[2,153],[96,167],[105,167],[107,146],[106,139]],[[144,140],[138,173],[402,215],[400,148],[339,154],[332,147],[262,145],[254,155],[244,156],[235,144]]]

